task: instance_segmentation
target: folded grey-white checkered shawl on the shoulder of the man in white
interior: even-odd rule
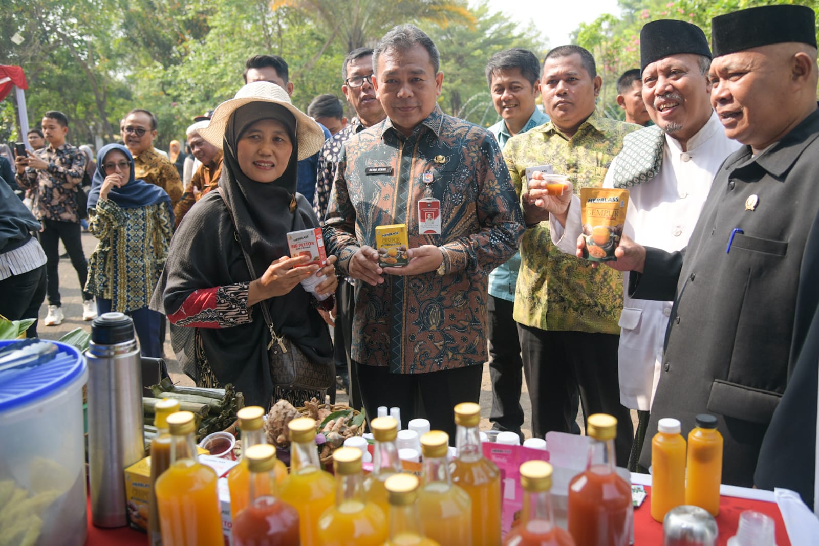
[[[634,187],[656,177],[663,166],[665,132],[657,125],[628,133],[613,166],[614,187]]]

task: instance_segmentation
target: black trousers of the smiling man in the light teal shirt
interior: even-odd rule
[[[512,318],[514,301],[489,296],[489,377],[492,381],[492,408],[489,420],[493,428],[521,434],[523,408],[523,361],[520,359],[518,323]]]

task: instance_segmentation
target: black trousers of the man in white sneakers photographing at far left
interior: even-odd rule
[[[60,251],[59,242],[66,246],[66,252],[71,259],[79,278],[80,289],[85,288],[88,279],[88,262],[83,252],[83,237],[79,223],[57,222],[43,220],[43,232],[40,233],[40,245],[46,253],[46,268],[48,270],[48,305],[61,306],[60,301]],[[93,300],[93,296],[83,290],[83,300]]]

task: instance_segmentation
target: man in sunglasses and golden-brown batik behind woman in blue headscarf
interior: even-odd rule
[[[182,180],[174,164],[153,147],[156,116],[150,111],[135,108],[125,116],[121,130],[122,142],[133,156],[134,177],[161,187],[170,196],[171,203],[176,205],[182,198]]]

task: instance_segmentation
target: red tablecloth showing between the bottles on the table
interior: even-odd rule
[[[634,544],[635,546],[657,546],[663,544],[663,525],[651,517],[651,488],[645,486],[649,494],[645,502],[634,511]],[[736,526],[740,522],[740,513],[745,510],[756,510],[772,517],[776,522],[776,546],[790,546],[788,534],[785,532],[785,522],[779,513],[776,503],[767,503],[761,500],[737,499],[736,497],[722,497],[719,503],[717,526],[719,527],[720,546],[724,546],[728,539],[736,533]],[[145,546],[147,535],[129,527],[116,529],[101,529],[91,524],[91,502],[88,501],[88,540],[86,546]]]

